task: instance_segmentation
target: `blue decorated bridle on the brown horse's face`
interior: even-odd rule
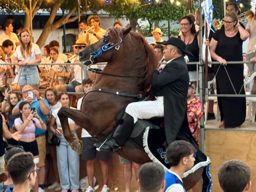
[[[95,58],[97,58],[97,57],[99,57],[99,56],[101,56],[102,55],[102,53],[105,53],[105,52],[107,52],[107,51],[110,51],[111,49],[113,49],[113,48],[115,48],[116,50],[118,50],[119,49],[119,47],[120,47],[120,45],[118,45],[117,43],[115,44],[115,43],[113,43],[113,42],[110,42],[110,43],[108,43],[108,41],[107,41],[107,34],[108,34],[108,32],[106,33],[106,34],[104,34],[103,35],[103,37],[102,37],[102,39],[103,39],[103,41],[105,42],[97,51],[93,51],[92,53],[91,53],[91,56],[95,59]],[[120,42],[122,43],[123,42],[123,39],[121,38],[121,37],[119,37],[120,38]]]

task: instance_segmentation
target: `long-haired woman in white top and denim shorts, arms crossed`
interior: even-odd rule
[[[19,33],[20,45],[16,48],[14,63],[18,63],[18,84],[21,89],[24,85],[32,85],[38,89],[39,74],[33,64],[41,63],[41,50],[38,45],[32,43],[30,32],[27,29]]]

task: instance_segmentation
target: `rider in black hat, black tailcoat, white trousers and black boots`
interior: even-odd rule
[[[158,44],[166,45],[163,51],[166,65],[161,72],[155,70],[151,75],[151,91],[156,96],[155,100],[128,104],[123,124],[118,125],[113,137],[100,147],[101,150],[115,152],[121,148],[138,119],[163,116],[167,117],[164,118],[167,144],[180,139],[197,145],[187,119],[189,73],[184,56],[185,54],[192,56],[192,53],[186,50],[185,43],[176,37]]]

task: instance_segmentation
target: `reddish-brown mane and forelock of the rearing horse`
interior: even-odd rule
[[[114,28],[110,28],[108,30],[109,32],[109,41],[110,42],[114,42],[117,44],[121,44],[120,40],[123,39],[123,28],[120,27],[114,27]],[[158,60],[156,57],[156,54],[154,52],[154,49],[151,47],[151,45],[146,41],[145,37],[138,33],[138,32],[133,32],[130,31],[127,35],[129,35],[130,38],[126,38],[126,41],[129,40],[130,44],[134,44],[134,40],[131,39],[131,36],[133,36],[136,39],[136,42],[141,42],[142,43],[142,47],[145,49],[147,55],[146,55],[146,59],[142,62],[142,67],[145,67],[145,72],[144,72],[144,76],[145,76],[145,86],[148,87],[149,83],[150,83],[150,77],[152,72],[157,69],[158,66]]]

